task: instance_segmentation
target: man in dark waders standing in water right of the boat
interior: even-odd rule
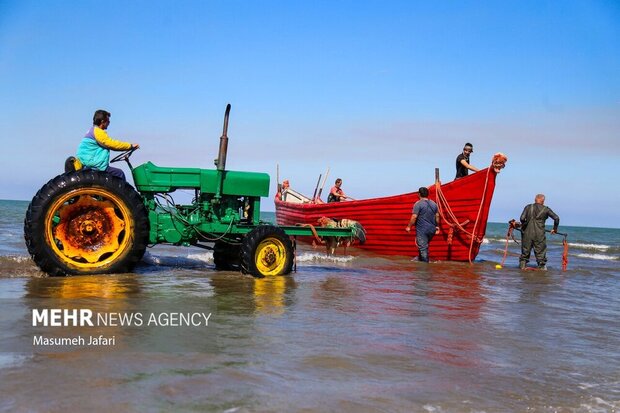
[[[519,258],[519,268],[525,269],[530,260],[532,248],[538,268],[547,269],[547,238],[545,237],[545,221],[547,218],[553,219],[552,234],[558,231],[560,217],[551,208],[545,206],[545,196],[536,195],[534,203],[527,205],[521,213],[521,258]]]

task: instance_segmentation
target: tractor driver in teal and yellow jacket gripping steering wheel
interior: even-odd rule
[[[76,156],[84,168],[107,172],[125,180],[125,173],[121,169],[110,166],[110,150],[127,151],[138,149],[140,145],[117,141],[108,136],[106,129],[110,125],[110,116],[112,114],[105,110],[99,109],[95,112],[93,127],[80,142]]]

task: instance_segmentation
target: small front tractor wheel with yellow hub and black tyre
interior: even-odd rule
[[[250,231],[241,246],[241,271],[256,277],[290,274],[293,243],[282,228],[261,225]]]

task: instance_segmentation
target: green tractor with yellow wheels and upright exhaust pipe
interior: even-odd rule
[[[24,237],[34,262],[49,275],[128,272],[147,246],[172,244],[213,250],[218,270],[257,277],[289,274],[291,237],[355,238],[351,228],[279,227],[261,222],[260,199],[269,195],[269,175],[226,170],[228,116],[216,169],[133,167],[136,188],[108,173],[80,169],[45,184],[28,207]],[[68,171],[67,171],[68,169]],[[190,205],[176,205],[170,193],[192,189]]]

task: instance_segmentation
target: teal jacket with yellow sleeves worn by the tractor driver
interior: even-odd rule
[[[80,142],[76,156],[85,168],[105,171],[110,166],[110,149],[126,151],[131,143],[112,139],[105,130],[93,126]]]

